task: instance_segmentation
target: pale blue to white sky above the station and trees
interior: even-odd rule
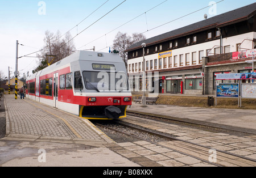
[[[96,46],[97,51],[108,52],[118,31],[127,32],[129,35],[135,32],[145,32],[143,34],[150,38],[204,20],[204,14],[208,14],[208,18],[210,18],[255,2],[255,0],[224,0],[217,3],[216,6],[207,7],[211,1],[123,1],[0,0],[0,71],[3,71],[6,77],[8,66],[12,68],[12,72],[15,71],[16,40],[19,40],[19,44],[25,45],[19,45],[18,56],[25,56],[42,49],[44,33],[47,30],[53,33],[59,30],[64,34],[75,27],[72,29],[71,35],[76,36],[73,40],[76,49],[91,49]],[[219,1],[221,0],[213,2]],[[122,4],[118,6],[120,3]],[[160,3],[162,4],[159,5]],[[116,6],[118,7],[114,9]],[[98,9],[99,7],[100,9]],[[152,9],[153,7],[155,8]],[[203,9],[204,7],[207,8]],[[197,10],[200,11],[175,20]],[[92,14],[93,11],[95,12]],[[111,12],[104,16],[109,11]],[[89,17],[86,18],[87,16]],[[100,19],[102,16],[104,18]],[[138,18],[136,18],[137,16]],[[85,20],[80,23],[83,19]],[[131,19],[134,20],[129,22]],[[96,22],[97,20],[98,22]],[[171,22],[172,20],[175,21]],[[167,22],[171,23],[161,26]],[[77,26],[77,24],[79,25]],[[122,24],[125,25],[115,29]],[[84,29],[86,30],[83,31]],[[77,36],[77,33],[80,34]],[[98,39],[99,37],[100,39]],[[38,66],[38,59],[35,56],[36,54],[32,54],[30,58],[19,58],[18,70],[21,75],[27,74],[27,71],[31,74],[32,70]]]

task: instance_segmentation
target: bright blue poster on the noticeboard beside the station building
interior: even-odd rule
[[[218,98],[239,98],[239,83],[220,83],[217,86]]]

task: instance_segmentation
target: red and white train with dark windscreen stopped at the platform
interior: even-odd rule
[[[86,119],[126,117],[131,91],[118,54],[79,51],[27,79],[27,97]]]

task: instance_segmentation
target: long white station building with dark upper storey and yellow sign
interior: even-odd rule
[[[250,58],[232,55],[256,48],[255,15],[253,3],[131,45],[126,50],[131,86],[139,82],[142,88],[142,79],[133,78],[141,75],[144,65],[146,73],[159,73],[160,93],[214,94],[216,74],[251,71],[246,62]]]

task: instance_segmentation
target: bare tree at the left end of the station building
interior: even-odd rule
[[[127,33],[118,32],[114,39],[113,48],[119,51],[119,56],[125,62],[127,69],[127,53],[125,52],[132,44],[139,41],[146,40],[146,37],[139,33],[133,33],[132,36],[129,36]]]

